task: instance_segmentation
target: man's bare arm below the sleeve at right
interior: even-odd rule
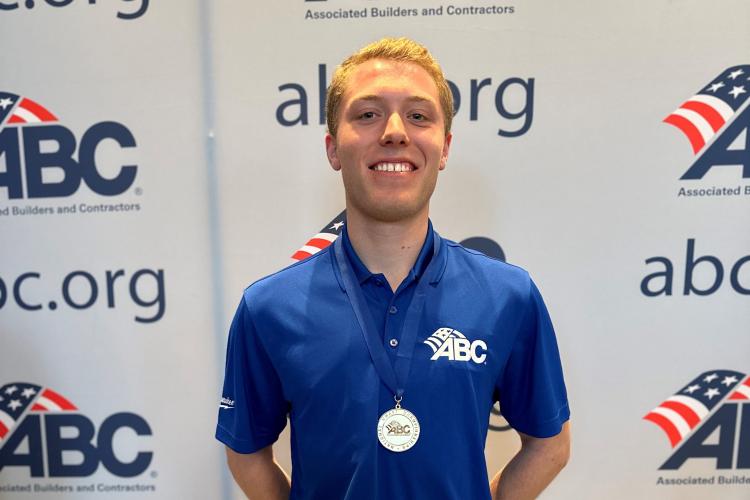
[[[570,456],[570,422],[550,438],[521,434],[521,451],[490,482],[492,500],[531,500],[565,467]]]

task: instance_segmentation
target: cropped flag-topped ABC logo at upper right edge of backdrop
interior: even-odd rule
[[[678,197],[750,197],[750,65],[727,68],[664,122],[695,155]]]

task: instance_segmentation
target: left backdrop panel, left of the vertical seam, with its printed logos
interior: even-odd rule
[[[0,2],[0,498],[221,496],[199,7]]]

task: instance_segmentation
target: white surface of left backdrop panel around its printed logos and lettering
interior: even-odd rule
[[[3,2],[10,4],[12,2]],[[0,92],[21,94],[47,108],[80,144],[100,122],[114,121],[130,131],[136,145],[121,148],[105,139],[96,150],[103,177],[122,165],[137,165],[134,182],[122,194],[102,196],[82,183],[65,197],[8,199],[0,188],[2,209],[52,207],[52,215],[0,217],[0,278],[8,300],[0,309],[0,386],[28,382],[49,387],[69,399],[97,429],[110,415],[139,415],[151,429],[137,436],[123,428],[114,436],[114,452],[130,462],[138,451],[152,452],[139,475],[118,477],[100,466],[86,477],[31,477],[27,467],[7,467],[0,486],[32,487],[32,493],[0,490],[2,498],[32,498],[35,486],[95,486],[70,498],[106,498],[99,485],[145,485],[153,498],[216,498],[221,488],[222,452],[212,437],[217,365],[221,355],[213,335],[211,240],[205,161],[203,31],[196,2],[152,6],[138,19],[117,18],[135,11],[135,2],[67,7],[37,2],[0,11]],[[50,124],[9,125],[18,128]],[[43,149],[54,151],[54,143]],[[0,159],[7,170],[9,152]],[[28,158],[26,158],[28,160]],[[27,165],[28,168],[28,165]],[[62,177],[48,167],[46,182]],[[75,175],[72,172],[71,176]],[[86,212],[80,205],[137,205],[127,212]],[[77,213],[58,214],[76,206]],[[12,213],[12,212],[11,212]],[[157,280],[141,269],[163,273]],[[106,272],[123,270],[113,284],[108,307]],[[98,298],[86,309],[69,307],[62,297],[65,277],[85,271],[96,279]],[[21,297],[43,304],[21,309],[13,299],[16,279],[27,272],[40,278],[22,283]],[[70,296],[83,304],[91,285],[83,275],[70,281]],[[140,306],[161,297],[158,307]],[[52,310],[49,302],[58,306]],[[3,395],[0,395],[2,397]],[[5,402],[12,396],[4,395]],[[2,404],[2,402],[0,402]],[[65,429],[69,437],[75,429]],[[4,443],[0,443],[0,446]],[[50,448],[49,439],[44,446]],[[22,445],[19,453],[24,448]],[[34,455],[46,455],[32,449]],[[81,454],[64,452],[67,463]],[[200,471],[192,475],[191,471]],[[121,493],[112,493],[112,495]],[[44,495],[47,495],[46,497]],[[50,493],[38,496],[49,498]]]

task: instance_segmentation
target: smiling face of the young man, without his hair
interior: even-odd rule
[[[427,214],[446,136],[437,86],[413,63],[372,59],[349,75],[328,160],[341,170],[347,210],[396,222]]]

